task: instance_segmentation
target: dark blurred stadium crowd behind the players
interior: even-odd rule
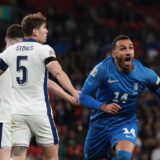
[[[136,57],[160,75],[159,9],[159,0],[0,0],[0,51],[10,24],[41,11],[48,20],[47,43],[76,88],[81,89],[93,66],[109,55],[113,37],[122,33],[134,41]],[[147,92],[138,104],[133,160],[160,159],[160,100]],[[60,135],[60,160],[82,160],[90,110],[50,97]],[[34,139],[27,159],[44,160]]]

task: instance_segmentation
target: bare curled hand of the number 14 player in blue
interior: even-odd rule
[[[109,114],[116,114],[121,109],[121,106],[116,103],[103,104],[100,109]]]

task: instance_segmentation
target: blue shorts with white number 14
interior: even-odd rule
[[[137,132],[137,122],[126,123],[114,129],[90,125],[84,145],[84,159],[107,158],[110,148],[113,148],[121,140],[136,144]]]

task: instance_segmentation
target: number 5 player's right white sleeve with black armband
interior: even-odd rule
[[[40,58],[47,65],[51,61],[57,60],[54,50],[49,45],[42,45],[40,50]]]

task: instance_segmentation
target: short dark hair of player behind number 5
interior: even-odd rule
[[[22,26],[20,24],[12,24],[7,28],[6,31],[7,38],[23,38],[24,34],[22,31]]]

